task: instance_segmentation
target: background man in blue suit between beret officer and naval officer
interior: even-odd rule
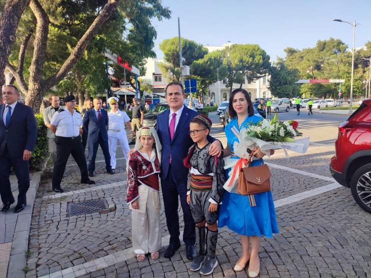
[[[94,177],[98,144],[103,151],[107,173],[114,174],[115,172],[111,168],[111,156],[109,155],[108,148],[108,114],[106,110],[102,109],[101,98],[94,98],[93,105],[94,108],[88,110],[83,119],[83,130],[88,130],[89,177]]]

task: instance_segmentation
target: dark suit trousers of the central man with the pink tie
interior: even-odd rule
[[[173,178],[173,169],[170,165],[167,177],[161,179],[163,205],[165,208],[166,225],[170,234],[170,242],[179,241],[179,215],[178,215],[178,196],[183,211],[183,241],[187,245],[193,245],[196,241],[196,225],[193,220],[190,205],[187,203],[187,180],[176,182]]]

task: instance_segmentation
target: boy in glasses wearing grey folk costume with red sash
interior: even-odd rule
[[[184,166],[190,168],[187,202],[196,223],[196,256],[190,269],[201,274],[211,274],[218,265],[215,249],[218,239],[218,212],[226,182],[223,156],[210,156],[207,135],[211,120],[205,115],[196,116],[190,123],[190,135],[194,144],[184,158]],[[205,226],[207,223],[207,227]]]

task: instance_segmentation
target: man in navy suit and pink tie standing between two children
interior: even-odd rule
[[[169,246],[164,256],[171,257],[180,247],[177,211],[179,195],[184,220],[183,241],[186,243],[187,258],[193,259],[195,256],[195,222],[187,203],[189,169],[184,167],[183,159],[187,156],[188,149],[194,144],[189,134],[190,121],[199,113],[184,106],[186,94],[180,83],[169,83],[165,92],[170,109],[159,114],[156,123],[157,134],[162,144],[160,178],[166,224],[170,233]],[[210,136],[208,140],[215,141]],[[221,150],[220,141],[213,142],[210,154],[220,155]]]

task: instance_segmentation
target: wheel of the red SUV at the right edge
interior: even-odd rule
[[[350,189],[357,204],[371,213],[371,163],[355,171],[350,180]]]

